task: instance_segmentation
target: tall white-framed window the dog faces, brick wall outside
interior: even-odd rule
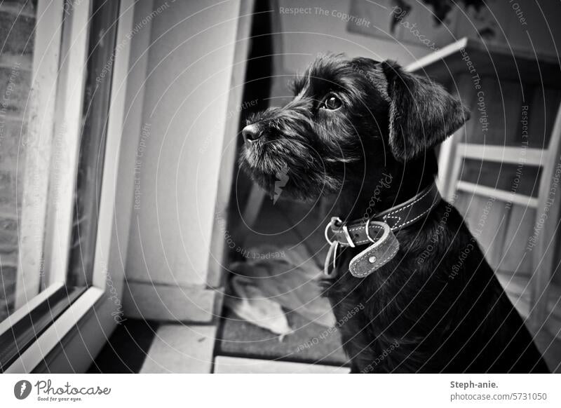
[[[130,0],[0,4],[0,372],[40,371],[93,327],[94,306],[116,308],[105,294],[118,161],[105,157],[119,153],[133,11]],[[121,281],[112,273],[111,288]]]

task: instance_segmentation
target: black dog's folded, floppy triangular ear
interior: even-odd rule
[[[389,147],[399,161],[424,154],[468,120],[469,111],[442,86],[396,62],[380,65],[388,81]]]

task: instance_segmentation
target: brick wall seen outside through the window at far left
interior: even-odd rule
[[[36,0],[0,4],[0,321],[13,310]],[[29,108],[27,108],[29,109]]]

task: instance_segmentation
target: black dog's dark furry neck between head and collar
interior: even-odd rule
[[[347,222],[370,218],[404,203],[430,186],[438,170],[433,156],[409,163],[386,161],[383,170],[380,168],[367,169],[367,174],[374,176],[365,179],[363,184],[344,186],[335,206],[337,216]]]

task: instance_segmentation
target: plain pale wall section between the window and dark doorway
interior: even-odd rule
[[[154,297],[162,313],[171,313],[172,303],[182,313],[155,318],[209,317],[197,309],[213,301],[214,291],[205,289],[213,282],[208,266],[218,176],[222,161],[233,163],[234,156],[224,129],[240,5],[158,0],[151,27],[143,28],[151,34],[134,168],[128,315],[150,313],[144,309],[150,300],[141,297]]]

